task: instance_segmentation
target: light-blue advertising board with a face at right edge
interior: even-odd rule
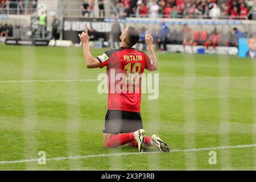
[[[256,39],[240,38],[238,55],[240,57],[256,58]]]

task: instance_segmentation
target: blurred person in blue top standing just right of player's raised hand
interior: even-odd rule
[[[164,52],[167,51],[167,43],[170,42],[170,38],[171,38],[171,29],[167,26],[166,22],[164,22],[163,20],[160,28],[159,39],[158,39],[158,48],[161,51],[164,51]],[[163,49],[161,49],[161,44],[163,44]]]

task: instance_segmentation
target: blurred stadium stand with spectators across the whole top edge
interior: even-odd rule
[[[48,7],[53,7],[53,1],[22,1],[0,0],[1,14],[32,14],[38,2],[44,2]],[[216,6],[209,7],[210,3]],[[209,10],[217,13],[214,18],[226,19],[251,19],[253,0],[113,0],[110,1],[110,14],[119,17],[148,17],[148,18],[210,18]],[[99,11],[100,16],[105,16],[106,0],[63,0],[59,8],[64,15],[80,15],[92,17]],[[97,8],[96,8],[97,6]]]

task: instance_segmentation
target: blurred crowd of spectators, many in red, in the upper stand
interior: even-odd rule
[[[250,0],[116,0],[115,7],[121,17],[149,18],[214,18],[246,19],[253,1]],[[213,5],[211,3],[215,3]],[[98,3],[104,11],[104,0]],[[82,14],[90,15],[94,9],[93,0],[85,0]],[[247,17],[251,18],[251,17]]]

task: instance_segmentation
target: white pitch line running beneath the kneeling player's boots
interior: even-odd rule
[[[249,148],[256,147],[255,144],[244,144],[237,146],[220,146],[220,147],[209,147],[209,148],[188,148],[188,149],[173,149],[170,152],[200,152],[208,150],[224,150],[229,148]],[[162,153],[159,151],[152,152],[122,152],[122,153],[113,153],[113,154],[98,154],[98,155],[76,155],[76,156],[67,156],[67,157],[56,157],[56,158],[47,158],[46,160],[75,160],[75,159],[89,159],[89,158],[105,158],[109,156],[123,156],[123,155],[143,155],[143,154],[156,154]],[[163,153],[164,154],[164,153]],[[0,164],[12,164],[12,163],[30,163],[38,162],[38,159],[26,159],[26,160],[6,160],[0,161]]]

